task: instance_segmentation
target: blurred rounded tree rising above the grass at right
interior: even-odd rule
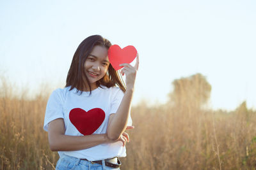
[[[211,85],[200,73],[180,78],[172,82],[173,92],[170,92],[170,103],[179,108],[199,109],[211,96]]]

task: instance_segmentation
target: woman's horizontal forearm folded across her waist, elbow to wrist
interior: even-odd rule
[[[107,143],[106,134],[92,134],[88,136],[68,136],[58,134],[49,136],[49,144],[52,151],[74,151],[91,148],[92,146]]]

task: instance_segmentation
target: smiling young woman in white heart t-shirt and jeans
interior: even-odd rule
[[[64,89],[52,92],[44,130],[60,159],[56,169],[120,169],[131,126],[131,101],[138,71],[124,63],[125,85],[108,60],[111,43],[99,35],[78,46]]]

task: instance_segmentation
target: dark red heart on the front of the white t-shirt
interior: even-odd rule
[[[100,108],[84,111],[74,108],[69,112],[70,122],[83,135],[93,134],[105,119],[105,112]]]

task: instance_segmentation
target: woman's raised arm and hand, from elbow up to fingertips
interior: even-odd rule
[[[139,66],[138,54],[134,67],[132,67],[130,64],[120,64],[120,66],[124,66],[124,69],[122,69],[122,74],[125,74],[126,76],[125,82],[127,89],[124,93],[124,97],[120,103],[120,106],[118,107],[118,110],[115,114],[111,114],[109,116],[107,134],[108,138],[112,140],[119,139],[127,127],[129,112],[131,110],[134,83]]]

